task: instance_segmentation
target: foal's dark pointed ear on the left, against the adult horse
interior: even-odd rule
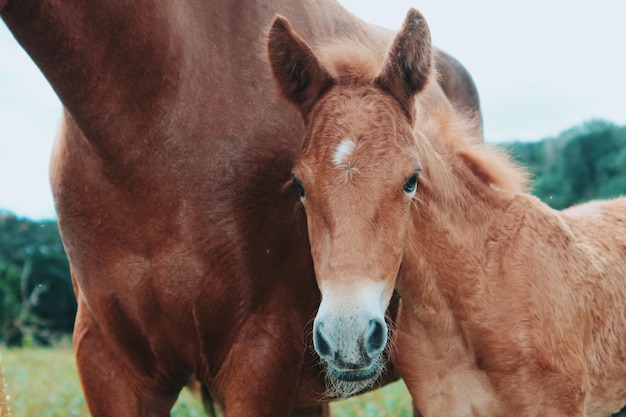
[[[313,103],[335,81],[282,16],[272,24],[267,49],[280,94],[300,110],[306,121]]]

